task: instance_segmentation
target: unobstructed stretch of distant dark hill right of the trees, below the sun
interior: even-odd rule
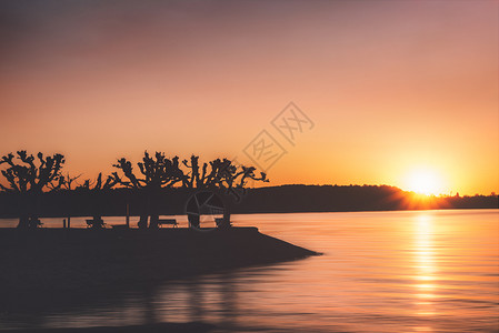
[[[282,185],[252,189],[234,211],[338,212],[499,208],[495,196],[426,196],[388,185]]]

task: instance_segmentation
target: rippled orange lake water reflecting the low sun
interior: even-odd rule
[[[122,291],[98,304],[2,313],[0,327],[200,321],[213,332],[499,332],[499,210],[232,220],[323,255]]]

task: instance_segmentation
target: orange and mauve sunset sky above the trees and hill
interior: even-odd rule
[[[0,153],[252,161],[270,185],[499,192],[499,1],[0,0]],[[271,121],[295,102],[291,144]]]

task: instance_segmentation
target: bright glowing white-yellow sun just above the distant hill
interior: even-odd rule
[[[443,181],[435,170],[417,169],[408,173],[405,190],[419,194],[437,195],[443,192]]]

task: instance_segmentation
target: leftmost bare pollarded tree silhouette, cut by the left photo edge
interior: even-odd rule
[[[64,163],[62,154],[53,154],[47,158],[41,152],[34,158],[21,150],[17,157],[9,153],[1,158],[0,165],[7,165],[2,170],[8,185],[0,184],[6,192],[18,193],[21,203],[21,212],[18,228],[37,228],[40,224],[38,215],[38,200],[43,190],[58,190],[63,184],[61,169]]]

